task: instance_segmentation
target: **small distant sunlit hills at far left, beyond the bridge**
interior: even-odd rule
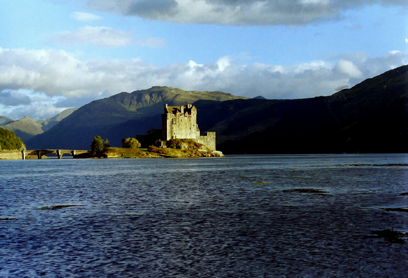
[[[5,124],[3,124],[2,127],[13,131],[14,133],[16,133],[16,136],[21,138],[21,140],[27,142],[35,135],[41,134],[44,131],[51,129],[53,126],[55,126],[62,119],[69,116],[76,109],[78,108],[65,109],[61,113],[47,120],[31,119],[28,116],[24,116],[19,120],[12,120],[10,118],[0,116],[0,122],[1,120],[3,120],[3,118],[5,118],[4,119]]]

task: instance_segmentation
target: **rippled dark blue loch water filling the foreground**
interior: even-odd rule
[[[408,231],[407,181],[407,154],[3,160],[0,277],[406,278],[370,235]]]

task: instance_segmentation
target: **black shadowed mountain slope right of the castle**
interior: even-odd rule
[[[199,100],[197,124],[224,153],[408,151],[408,66],[331,96]]]

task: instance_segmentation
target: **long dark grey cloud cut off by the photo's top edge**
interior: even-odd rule
[[[89,0],[86,7],[173,23],[301,25],[374,4],[406,7],[405,0]]]

